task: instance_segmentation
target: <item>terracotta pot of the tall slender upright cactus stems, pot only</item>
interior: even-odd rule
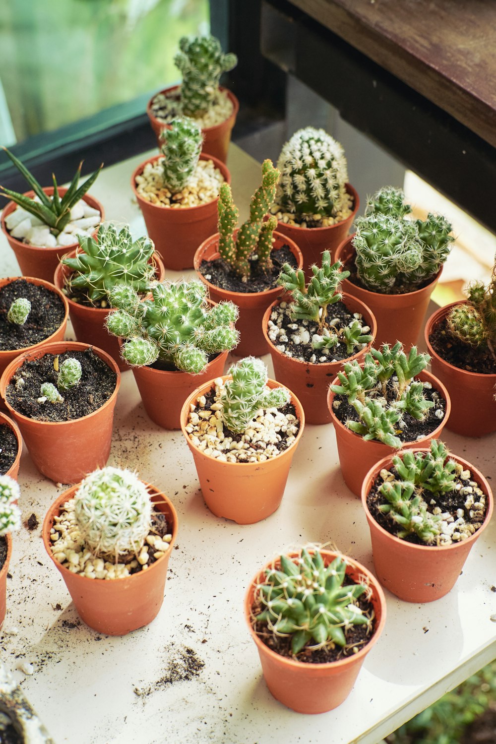
[[[283,246],[288,246],[297,261],[298,269],[301,269],[303,256],[300,248],[288,237],[274,232],[273,250],[277,251]],[[232,353],[236,356],[263,356],[263,354],[268,353],[268,344],[262,330],[263,315],[268,306],[278,296],[283,295],[284,290],[281,286],[267,289],[265,292],[231,292],[228,289],[221,289],[205,279],[199,270],[202,261],[211,261],[216,258],[219,258],[219,233],[204,240],[196,251],[194,266],[199,279],[208,287],[211,300],[214,302],[231,300],[239,307],[239,318],[236,321],[236,328],[239,330],[239,344]]]

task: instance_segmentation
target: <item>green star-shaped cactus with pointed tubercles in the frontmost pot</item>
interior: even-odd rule
[[[280,568],[266,570],[256,586],[254,600],[262,611],[254,619],[274,635],[291,635],[293,655],[312,639],[318,647],[346,646],[351,626],[371,627],[370,615],[356,603],[368,588],[343,586],[346,568],[341,556],[326,566],[318,550],[303,548],[294,559],[281,556]]]

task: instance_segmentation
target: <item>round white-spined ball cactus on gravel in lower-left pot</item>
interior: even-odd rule
[[[152,503],[135,473],[115,467],[91,472],[74,495],[74,516],[86,547],[117,562],[137,554],[149,534]]]

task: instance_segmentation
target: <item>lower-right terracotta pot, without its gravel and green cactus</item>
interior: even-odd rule
[[[428,452],[428,448],[425,447],[411,449],[415,452]],[[397,454],[401,455],[401,452]],[[492,516],[494,502],[486,478],[463,458],[452,455],[451,452],[449,457],[463,465],[464,469],[468,468],[471,471],[472,479],[477,481],[489,502],[482,527],[466,540],[454,542],[452,545],[443,545],[439,548],[436,545],[413,545],[391,535],[373,518],[367,507],[367,496],[381,469],[390,469],[393,466],[393,458],[390,455],[376,463],[364,478],[361,501],[370,527],[377,578],[385,589],[389,589],[396,597],[406,602],[433,602],[448,594],[460,576],[474,542],[486,529]]]

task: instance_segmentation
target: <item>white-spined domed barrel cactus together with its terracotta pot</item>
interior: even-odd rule
[[[294,132],[277,167],[281,177],[271,214],[277,230],[300,246],[309,280],[308,267],[320,265],[324,250],[335,260],[358,211],[358,193],[348,183],[343,147],[323,129],[306,126]]]

